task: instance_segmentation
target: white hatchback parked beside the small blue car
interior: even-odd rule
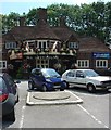
[[[89,92],[97,89],[111,89],[111,77],[99,76],[94,69],[69,69],[62,75],[67,87],[84,87]]]

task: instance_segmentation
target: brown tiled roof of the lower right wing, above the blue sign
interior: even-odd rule
[[[79,52],[110,52],[111,50],[98,38],[79,38]]]

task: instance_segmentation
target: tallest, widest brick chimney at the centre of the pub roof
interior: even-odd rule
[[[47,9],[38,9],[38,20],[44,20],[45,22],[47,22]]]

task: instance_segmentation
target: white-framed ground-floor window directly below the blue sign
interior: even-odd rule
[[[96,60],[96,68],[107,68],[108,60]]]

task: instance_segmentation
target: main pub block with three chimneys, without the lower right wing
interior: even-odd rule
[[[26,26],[25,17],[21,17],[20,26],[2,37],[7,68],[12,69],[13,76],[21,68],[27,73],[35,67],[51,67],[62,74],[76,63],[78,43],[77,35],[65,25],[64,17],[60,17],[58,27],[50,27],[47,9],[41,8],[38,10],[36,26]]]

